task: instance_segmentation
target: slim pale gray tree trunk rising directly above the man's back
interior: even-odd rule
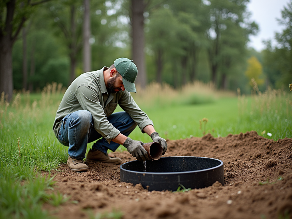
[[[83,18],[83,71],[91,71],[91,46],[90,38],[90,2],[84,0],[84,18]]]

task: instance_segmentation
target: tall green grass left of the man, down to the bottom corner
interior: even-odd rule
[[[61,88],[56,83],[46,86],[39,100],[29,91],[15,92],[10,103],[1,94],[0,218],[49,218],[41,206],[56,203],[56,196],[46,192],[54,182],[40,171],[56,170],[67,157],[48,126],[48,121],[53,124]]]

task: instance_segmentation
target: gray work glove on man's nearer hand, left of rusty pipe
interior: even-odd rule
[[[123,146],[133,155],[133,157],[143,162],[148,159],[148,154],[142,145],[144,145],[142,141],[135,141],[131,138],[127,138],[123,144]]]

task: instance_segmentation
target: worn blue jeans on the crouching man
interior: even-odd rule
[[[107,120],[126,136],[137,126],[126,112],[113,113],[107,117]],[[57,136],[62,145],[69,146],[68,154],[75,159],[85,158],[87,143],[93,142],[101,137],[102,135],[94,128],[91,113],[87,110],[78,110],[65,116],[62,119]],[[108,149],[112,151],[117,150],[119,145],[113,141],[109,144],[105,138],[101,138],[93,143],[92,148],[106,154]]]

